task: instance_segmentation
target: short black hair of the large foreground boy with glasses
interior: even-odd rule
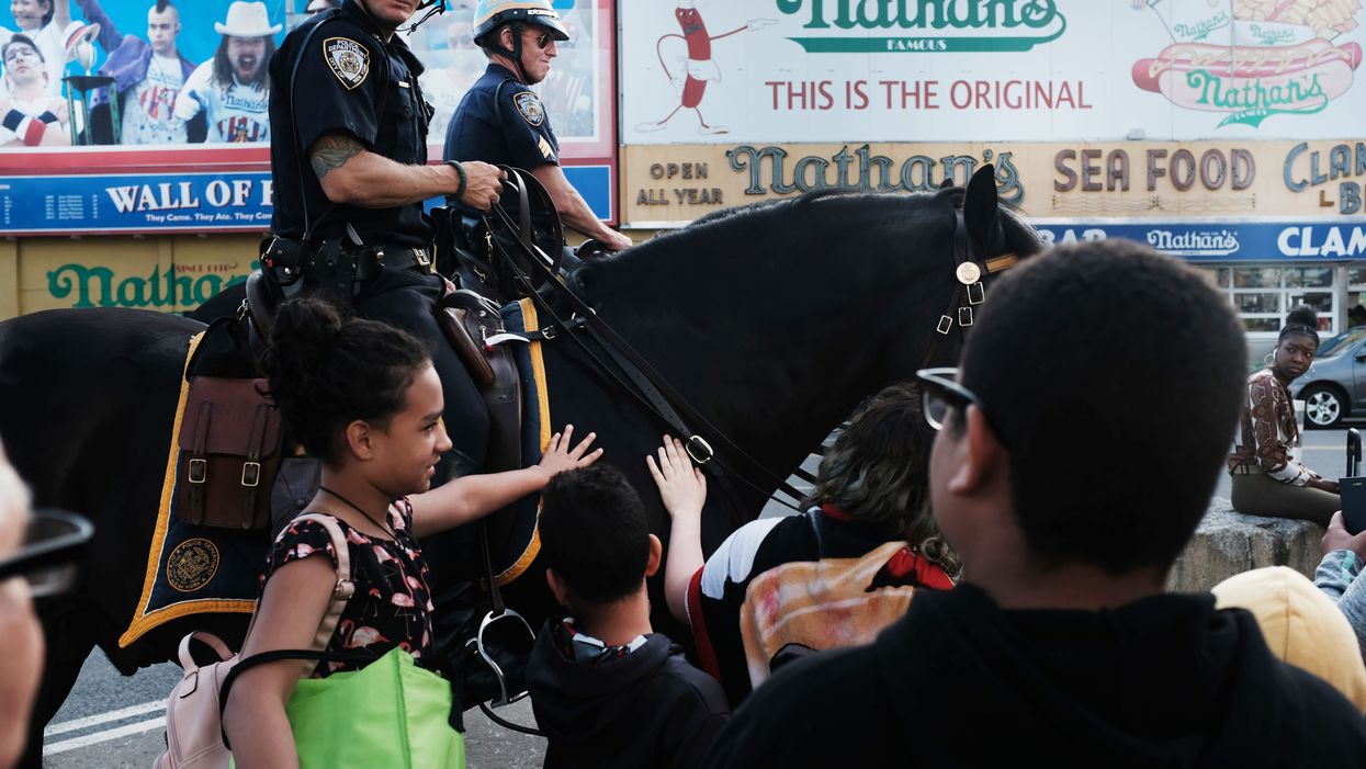
[[[1197,272],[1111,239],[1057,247],[989,292],[963,384],[1009,452],[1038,564],[1169,568],[1242,410],[1243,332]]]

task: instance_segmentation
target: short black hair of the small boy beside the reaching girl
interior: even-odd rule
[[[611,464],[550,478],[541,504],[545,565],[583,601],[609,604],[641,589],[650,560],[645,507]]]

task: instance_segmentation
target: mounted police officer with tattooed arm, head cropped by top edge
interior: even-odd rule
[[[395,31],[432,1],[346,0],[299,25],[270,60],[275,238],[262,266],[285,296],[326,291],[428,343],[455,443],[449,475],[482,466],[488,415],[433,316],[447,281],[433,269],[422,201],[451,195],[488,210],[505,175],[478,161],[426,164],[422,63]]]

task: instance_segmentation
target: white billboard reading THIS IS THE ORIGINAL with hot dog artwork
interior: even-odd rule
[[[1337,138],[1362,1],[631,0],[622,141]]]

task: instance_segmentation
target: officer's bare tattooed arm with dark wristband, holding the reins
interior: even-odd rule
[[[309,163],[322,194],[335,204],[393,208],[451,195],[460,186],[449,165],[406,165],[366,149],[357,137],[333,131],[309,148]],[[486,163],[464,163],[464,202],[488,210],[501,188],[503,171]]]

